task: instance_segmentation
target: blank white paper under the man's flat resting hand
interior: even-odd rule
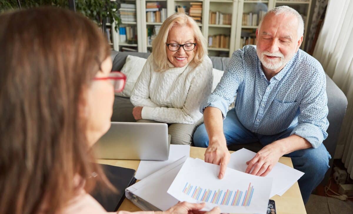
[[[256,153],[253,151],[245,148],[239,149],[231,154],[231,160],[229,161],[228,167],[245,172],[247,167],[246,161],[251,160],[255,155]],[[277,163],[271,172],[266,176],[267,178],[273,178],[270,197],[276,194],[279,196],[283,195],[303,175],[304,172],[300,172],[287,165]]]

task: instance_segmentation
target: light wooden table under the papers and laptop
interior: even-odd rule
[[[205,148],[191,147],[190,148],[190,157],[204,159]],[[232,153],[232,151],[231,151]],[[108,160],[100,159],[97,161],[100,164],[108,164],[113,166],[121,166],[126,168],[132,168],[137,170],[138,165],[140,164],[139,160]],[[290,157],[281,157],[279,162],[287,166],[293,167]],[[271,198],[275,201],[276,213],[278,214],[298,214],[306,213],[303,199],[301,198],[298,182],[289,188],[289,190],[282,196],[275,195]],[[136,207],[132,202],[125,198],[122,202],[119,210],[125,211],[141,211],[140,208]]]

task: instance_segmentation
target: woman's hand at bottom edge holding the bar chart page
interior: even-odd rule
[[[199,211],[205,207],[205,203],[189,203],[189,202],[179,202],[173,207],[169,208],[167,211],[163,212],[164,214],[219,214],[220,208],[215,207],[209,212]],[[156,212],[157,213],[157,212]]]

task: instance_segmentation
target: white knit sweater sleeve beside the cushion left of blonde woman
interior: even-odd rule
[[[154,102],[152,102],[149,94],[149,85],[151,81],[151,66],[152,58],[148,57],[145,65],[143,66],[140,76],[137,78],[135,86],[132,90],[130,101],[134,106],[143,107],[157,107]]]

